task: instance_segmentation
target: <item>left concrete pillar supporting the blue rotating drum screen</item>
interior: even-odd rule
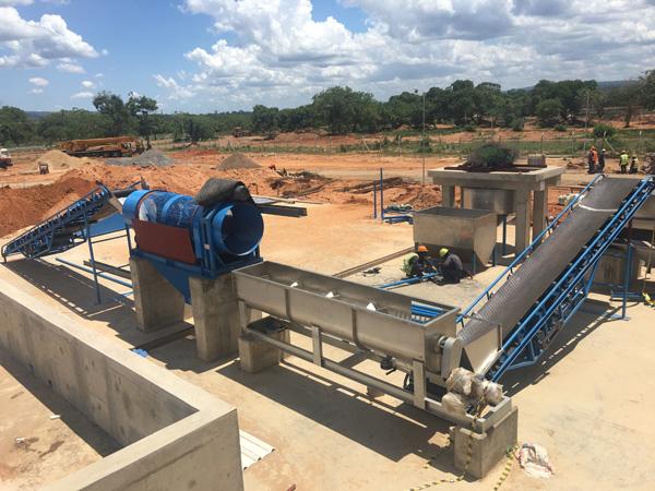
[[[150,333],[184,320],[184,297],[150,261],[130,258],[140,331]]]

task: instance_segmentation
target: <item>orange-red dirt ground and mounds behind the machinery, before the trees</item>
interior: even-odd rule
[[[59,155],[57,155],[59,154]],[[422,160],[416,157],[389,157],[380,155],[247,155],[261,167],[257,169],[216,170],[229,155],[213,149],[190,149],[186,160],[189,165],[171,167],[138,167],[104,165],[102,158],[68,157],[51,151],[48,175],[35,171],[38,161],[19,163],[0,176],[0,237],[15,235],[25,227],[36,225],[99,185],[120,189],[142,178],[151,189],[163,189],[180,194],[194,194],[211,177],[243,181],[254,195],[283,197],[298,202],[317,202],[345,205],[361,213],[373,213],[373,203],[380,205],[380,190],[373,193],[372,181],[384,178],[384,204],[409,204],[424,209],[441,204],[441,189],[430,183],[420,185]],[[169,154],[183,163],[184,154]],[[457,165],[454,158],[426,158],[425,168]],[[548,165],[567,165],[552,158]],[[270,166],[275,166],[277,171]],[[584,169],[575,166],[569,173],[584,176]],[[282,175],[284,173],[284,176]],[[379,183],[378,183],[379,184]],[[569,189],[553,190],[549,196],[549,214],[557,215],[559,194]],[[336,218],[336,217],[335,217]],[[330,217],[326,217],[330,219]]]

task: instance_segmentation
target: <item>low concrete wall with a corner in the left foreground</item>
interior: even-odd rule
[[[126,445],[47,489],[243,489],[235,407],[2,280],[0,343]]]

